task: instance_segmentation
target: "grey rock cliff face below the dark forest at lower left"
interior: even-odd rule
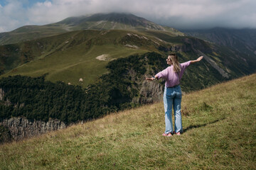
[[[60,130],[66,128],[65,123],[60,120],[50,119],[47,123],[38,120],[28,120],[26,118],[9,118],[1,120],[0,127],[2,130],[0,134],[1,142],[11,142],[23,140],[26,137],[41,135],[53,130]]]

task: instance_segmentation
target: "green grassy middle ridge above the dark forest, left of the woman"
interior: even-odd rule
[[[3,58],[8,56],[2,60],[3,72],[12,69],[3,76],[21,74],[38,77],[48,74],[47,80],[85,87],[107,73],[105,67],[111,60],[156,50],[155,42],[141,40],[135,36],[138,34],[134,33],[134,39],[129,40],[127,34],[133,33],[124,30],[84,30],[0,46]],[[107,55],[107,60],[97,60],[101,55]],[[84,81],[79,81],[80,78]]]

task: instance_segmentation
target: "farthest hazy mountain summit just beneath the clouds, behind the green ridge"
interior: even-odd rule
[[[180,31],[147,21],[129,13],[97,13],[92,16],[66,18],[45,26],[23,26],[8,33],[0,33],[0,45],[14,44],[58,35],[73,30],[163,30],[172,35],[184,35]]]

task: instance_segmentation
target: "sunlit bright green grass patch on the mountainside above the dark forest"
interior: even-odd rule
[[[88,51],[82,45],[72,47],[65,52],[55,52],[40,60],[23,64],[11,72],[4,74],[4,77],[14,76],[16,74],[29,77],[39,77],[47,74],[46,80],[64,81],[73,85],[86,87],[88,84],[95,83],[95,80],[102,74],[107,73],[107,63],[109,61],[100,61],[96,57],[99,55],[110,55],[114,60],[119,57],[127,57],[134,54],[142,54],[147,50],[136,50],[119,45],[94,45]],[[79,79],[83,81],[80,82]]]

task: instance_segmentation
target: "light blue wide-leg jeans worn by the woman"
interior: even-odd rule
[[[164,88],[164,112],[165,112],[165,133],[173,133],[173,123],[171,119],[172,107],[174,106],[174,130],[175,132],[182,132],[181,121],[181,86],[174,86],[171,88]]]

